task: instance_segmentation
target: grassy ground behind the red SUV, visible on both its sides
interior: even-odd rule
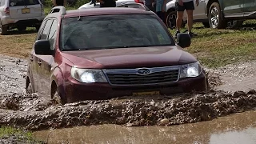
[[[74,9],[68,7],[67,9]],[[50,7],[45,9],[46,13]],[[243,27],[256,27],[256,20],[244,22]],[[248,28],[249,29],[249,28]],[[255,60],[256,57],[256,33],[250,30],[216,30],[204,28],[201,23],[194,24],[194,33],[198,37],[192,39],[188,50],[207,67],[216,68],[234,62]],[[175,34],[175,30],[170,30]],[[6,54],[18,58],[27,58],[33,46],[36,31],[27,29],[26,34],[18,34],[14,30],[10,35],[0,36],[0,54]]]

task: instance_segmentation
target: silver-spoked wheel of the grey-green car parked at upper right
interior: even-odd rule
[[[226,28],[227,22],[222,19],[222,12],[220,10],[220,6],[217,2],[211,4],[209,13],[209,24],[213,29],[223,29]]]

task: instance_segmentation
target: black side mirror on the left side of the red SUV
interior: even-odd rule
[[[34,42],[34,52],[38,55],[52,55],[53,50],[50,50],[50,41],[44,39]]]

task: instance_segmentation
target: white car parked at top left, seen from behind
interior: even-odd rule
[[[17,28],[26,30],[27,26],[38,30],[45,12],[40,0],[0,0],[0,34]]]

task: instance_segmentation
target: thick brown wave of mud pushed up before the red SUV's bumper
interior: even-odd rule
[[[10,94],[9,97],[24,98],[23,100],[27,102],[38,98],[35,95],[31,98],[19,94]],[[8,101],[0,101],[2,108],[6,108]],[[166,119],[167,126],[209,121],[227,114],[253,109],[256,106],[256,91],[238,91],[234,94],[212,91],[206,94],[183,94],[173,97],[126,97],[76,102],[65,106],[45,105],[47,108],[38,110],[37,107],[42,106],[42,102],[33,104],[36,108],[29,111],[22,111],[27,107],[22,105],[22,102],[18,102],[18,110],[3,110],[4,113],[0,110],[0,125],[43,130],[97,124],[154,126],[162,125],[162,119]]]

